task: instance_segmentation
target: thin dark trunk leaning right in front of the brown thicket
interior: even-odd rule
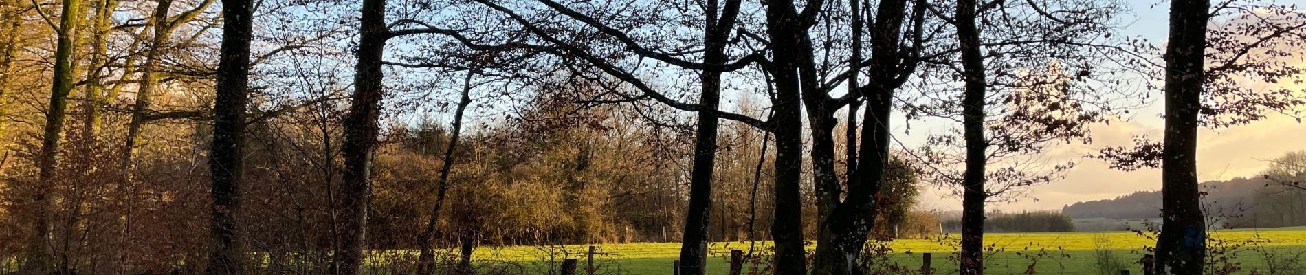
[[[440,167],[440,182],[435,194],[435,206],[431,209],[431,219],[427,220],[426,229],[422,231],[418,274],[431,274],[435,271],[435,252],[431,249],[431,240],[435,239],[435,225],[440,222],[440,209],[444,206],[444,195],[449,190],[449,172],[453,169],[453,162],[456,160],[453,150],[457,149],[458,139],[462,138],[462,115],[466,112],[468,106],[471,104],[471,76],[474,74],[474,72],[469,70],[466,78],[462,80],[462,95],[458,98],[457,109],[453,111],[453,132],[449,136],[449,146],[444,149],[444,164]]]

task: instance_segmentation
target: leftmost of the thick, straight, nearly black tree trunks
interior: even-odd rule
[[[212,250],[206,274],[244,274],[240,227],[240,185],[244,177],[246,107],[249,102],[249,39],[253,33],[253,3],[222,0],[222,46],[218,61],[217,98],[213,104],[213,143],[209,169],[213,173]],[[162,22],[159,22],[162,23]]]

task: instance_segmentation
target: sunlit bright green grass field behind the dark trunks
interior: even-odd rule
[[[1234,229],[1215,233],[1221,242],[1242,244],[1239,249],[1232,250],[1226,255],[1241,266],[1235,274],[1267,274],[1269,263],[1266,261],[1266,252],[1276,255],[1277,266],[1301,266],[1285,262],[1302,262],[1306,265],[1306,227],[1272,228],[1272,229]],[[956,236],[949,236],[956,237]],[[1032,263],[1037,274],[1098,274],[1098,259],[1101,252],[1109,252],[1113,258],[1126,265],[1132,274],[1141,274],[1140,265],[1136,263],[1143,257],[1144,248],[1153,241],[1131,232],[1067,232],[1067,233],[991,233],[985,236],[985,242],[991,245],[994,252],[986,257],[986,274],[1025,274]],[[932,254],[935,274],[955,272],[955,261],[951,259],[955,249],[951,244],[955,240],[947,237],[940,240],[896,240],[885,242],[892,248],[887,257],[889,262],[919,268],[922,253]],[[764,250],[767,242],[757,242],[756,250]],[[675,242],[643,242],[643,244],[598,244],[596,255],[599,274],[633,274],[654,275],[670,274],[673,259],[679,257],[679,244]],[[1100,249],[1100,246],[1102,246]],[[812,249],[814,244],[808,246]],[[550,265],[560,258],[580,258],[580,268],[585,268],[585,250],[588,245],[567,246],[505,246],[505,248],[478,248],[474,253],[477,262],[490,262],[485,266],[498,263],[516,265],[524,268],[547,270]],[[726,274],[729,268],[727,257],[730,249],[748,250],[747,242],[714,242],[710,246],[712,257],[708,263],[709,274]],[[398,252],[392,254],[404,254]],[[746,270],[752,268],[752,263],[746,263]],[[490,267],[483,267],[490,268]],[[1286,274],[1301,274],[1306,270]],[[1109,274],[1119,274],[1118,270]]]

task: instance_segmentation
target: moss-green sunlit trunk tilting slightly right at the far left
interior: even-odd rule
[[[27,259],[24,262],[22,274],[44,274],[54,267],[51,258],[51,224],[50,211],[54,207],[50,192],[54,190],[54,181],[59,163],[60,139],[64,132],[64,120],[68,109],[68,93],[73,89],[73,47],[77,47],[77,23],[81,20],[81,0],[64,0],[63,13],[59,20],[59,42],[55,48],[54,83],[50,89],[50,108],[46,112],[46,128],[42,134],[40,155],[37,159],[37,189],[33,197],[34,231],[27,241]]]

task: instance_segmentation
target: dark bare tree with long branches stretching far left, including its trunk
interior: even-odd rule
[[[733,120],[747,120],[754,125],[761,125],[761,121],[735,115],[724,113],[718,111],[720,94],[721,94],[721,73],[741,69],[744,65],[752,63],[752,60],[760,59],[760,55],[748,55],[741,57],[738,61],[729,61],[726,47],[729,46],[730,33],[734,30],[737,17],[739,14],[741,1],[726,0],[722,5],[721,3],[712,0],[703,3],[704,8],[704,31],[703,31],[703,48],[691,50],[701,51],[703,63],[688,61],[686,59],[678,57],[674,53],[662,52],[656,48],[646,48],[636,39],[631,38],[629,34],[614,29],[610,22],[601,21],[592,17],[581,10],[571,7],[565,7],[551,0],[538,0],[539,4],[547,7],[547,10],[560,13],[567,18],[579,21],[582,30],[593,30],[602,35],[610,36],[618,40],[618,44],[628,48],[635,56],[650,57],[666,64],[680,66],[690,70],[697,70],[700,76],[700,96],[699,104],[687,104],[677,102],[675,99],[667,98],[661,91],[644,83],[644,81],[636,78],[631,72],[620,68],[618,63],[605,60],[599,53],[588,52],[585,48],[590,46],[577,46],[580,43],[564,42],[555,36],[555,34],[546,31],[542,23],[532,22],[524,16],[518,14],[515,9],[500,5],[492,1],[478,1],[490,9],[498,10],[507,14],[513,21],[522,25],[529,33],[538,36],[545,46],[526,46],[521,43],[509,42],[508,44],[515,44],[516,47],[529,47],[539,51],[547,51],[556,56],[573,56],[579,55],[584,64],[596,66],[603,73],[613,76],[623,82],[628,82],[636,86],[639,91],[637,95],[626,94],[613,94],[614,100],[602,99],[586,99],[586,102],[611,102],[611,103],[626,103],[635,102],[645,98],[653,98],[666,106],[699,112],[699,124],[695,138],[695,154],[693,154],[693,168],[691,171],[690,181],[690,205],[686,216],[686,229],[683,231],[682,249],[680,249],[680,271],[684,274],[703,274],[707,263],[707,244],[708,232],[712,220],[712,179],[714,169],[714,156],[717,150],[717,124],[718,119],[733,119]],[[486,48],[485,44],[471,40],[471,38],[462,36],[457,31],[447,31],[448,35],[456,36],[460,42],[471,48]],[[797,186],[797,185],[795,185]]]

